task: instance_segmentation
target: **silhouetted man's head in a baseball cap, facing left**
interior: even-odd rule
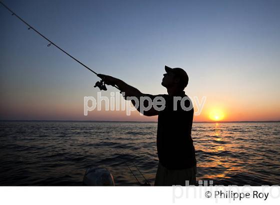
[[[165,65],[166,73],[163,74],[161,85],[168,87],[178,87],[183,90],[188,83],[186,72],[179,67],[171,68]]]

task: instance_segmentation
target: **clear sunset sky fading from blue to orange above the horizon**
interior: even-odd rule
[[[280,120],[278,0],[1,0],[94,71],[164,94],[164,65],[183,68],[194,121]],[[0,5],[0,119],[156,121],[92,110],[92,72]],[[114,87],[101,91],[110,97]],[[194,109],[198,108],[194,104]]]

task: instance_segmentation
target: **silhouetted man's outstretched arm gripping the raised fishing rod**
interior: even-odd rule
[[[105,84],[116,85],[120,89],[121,92],[125,93],[125,97],[127,97],[127,96],[136,97],[138,99],[138,102],[139,102],[140,97],[152,96],[150,94],[145,94],[145,93],[140,92],[137,88],[132,87],[131,85],[125,83],[121,79],[118,79],[118,78],[115,78],[115,77],[112,77],[109,75],[104,75],[104,74],[97,74],[97,76],[100,77],[102,80],[104,80]],[[135,106],[135,101],[131,100],[131,102]],[[147,107],[145,104],[144,104],[144,106]],[[138,106],[136,108],[138,111],[140,111],[140,106]],[[158,111],[155,110],[152,106],[149,110],[143,111],[142,114],[146,115],[146,116],[153,116],[153,115],[157,115]]]

